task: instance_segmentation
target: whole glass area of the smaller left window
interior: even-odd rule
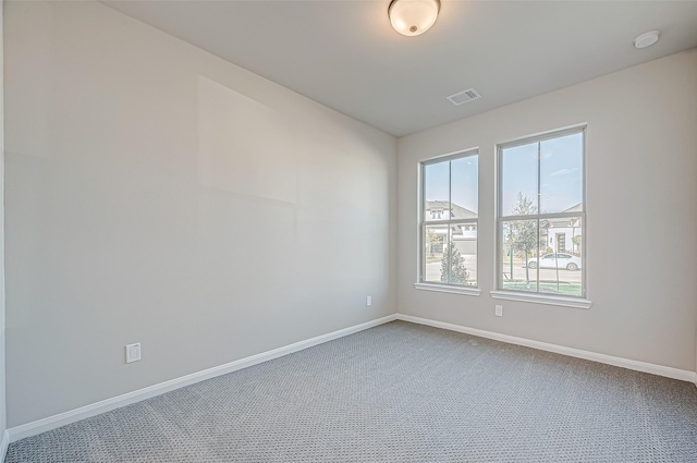
[[[477,285],[476,150],[421,163],[420,282]]]

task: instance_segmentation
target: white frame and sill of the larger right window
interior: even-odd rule
[[[574,135],[574,134],[582,134],[582,210],[580,211],[573,211],[573,212],[551,212],[551,214],[541,214],[540,212],[540,202],[539,202],[539,197],[540,197],[540,191],[541,191],[541,186],[540,186],[540,166],[541,166],[541,160],[540,160],[540,143],[541,142],[546,142],[549,139],[554,139],[554,138],[561,138],[564,136],[568,136],[568,135]],[[536,211],[537,214],[535,215],[528,215],[528,216],[502,216],[502,211],[503,211],[503,192],[501,191],[501,188],[503,187],[503,150],[506,148],[512,148],[512,147],[516,147],[516,146],[523,146],[523,145],[529,145],[529,144],[538,144],[538,163],[537,163],[537,205],[536,205]],[[586,185],[587,185],[587,151],[586,151],[586,146],[587,146],[587,124],[582,124],[582,125],[575,125],[575,126],[570,126],[570,127],[565,127],[565,129],[560,129],[560,130],[554,130],[554,131],[550,131],[550,132],[545,132],[541,134],[537,134],[537,135],[530,135],[530,136],[525,136],[522,138],[516,138],[514,141],[510,141],[510,142],[504,142],[504,143],[499,143],[497,144],[497,148],[496,148],[496,162],[497,162],[497,168],[496,168],[496,215],[494,215],[494,229],[496,229],[496,242],[494,242],[494,246],[496,246],[496,251],[494,251],[494,282],[496,282],[496,289],[493,291],[490,292],[491,296],[493,298],[502,298],[502,300],[511,300],[511,301],[525,301],[525,302],[537,302],[537,303],[541,303],[541,304],[551,304],[551,305],[562,305],[562,306],[568,306],[568,307],[576,307],[576,308],[589,308],[590,305],[592,304],[588,298],[587,298],[587,294],[588,294],[588,288],[587,288],[587,259],[586,259],[586,255],[587,255],[587,245],[586,245],[586,230],[587,230],[587,203],[586,203]],[[541,220],[553,220],[553,219],[560,219],[560,218],[574,218],[574,217],[579,217],[580,218],[580,222],[582,222],[582,239],[580,239],[580,259],[582,259],[582,267],[580,267],[580,281],[582,281],[582,292],[580,295],[558,295],[558,294],[549,294],[549,293],[543,293],[543,292],[539,292],[539,265],[537,266],[537,268],[535,269],[535,273],[536,273],[536,282],[538,284],[537,290],[536,291],[522,291],[522,290],[515,290],[515,289],[504,289],[503,287],[503,255],[502,255],[502,251],[503,251],[503,246],[502,246],[502,240],[503,240],[503,223],[506,221],[513,221],[513,220],[537,220],[538,222],[538,229],[537,229],[537,237],[538,237],[538,246],[539,246],[539,239],[540,239],[540,227],[539,223]],[[568,254],[566,252],[562,253],[560,251],[554,251],[555,254]],[[537,258],[541,258],[540,252],[538,249],[538,256]]]

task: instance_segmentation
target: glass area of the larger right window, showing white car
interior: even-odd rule
[[[585,127],[499,146],[498,289],[585,296]]]

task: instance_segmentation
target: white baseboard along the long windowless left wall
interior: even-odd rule
[[[358,331],[363,331],[368,328],[376,327],[378,325],[387,324],[396,319],[396,315],[388,315],[387,317],[377,318],[365,324],[355,325],[353,327],[344,328],[338,331],[332,331],[327,334],[321,334],[315,338],[306,339],[293,344],[285,345],[283,348],[274,349],[272,351],[262,352],[260,354],[252,355],[249,357],[240,358],[239,361],[230,362],[224,365],[219,365],[212,368],[204,369],[201,371],[193,373],[191,375],[182,376],[180,378],[170,379],[169,381],[160,382],[159,385],[149,386],[147,388],[138,389],[133,392],[117,395],[111,399],[102,400],[89,405],[81,406],[80,409],[71,410],[58,415],[49,416],[47,418],[38,419],[36,422],[27,423],[21,426],[9,428],[5,431],[5,437],[2,440],[4,449],[10,442],[15,442],[25,437],[35,436],[37,434],[46,432],[47,430],[56,429],[61,426],[69,425],[71,423],[78,422],[81,419],[89,418],[90,416],[99,415],[101,413],[110,412],[114,409],[119,409],[125,405],[130,405],[142,400],[146,400],[156,395],[163,394],[174,389],[182,388],[184,386],[193,385],[206,379],[213,378],[216,376],[225,375],[228,373],[236,371],[242,368],[246,368],[252,365],[257,365],[262,362],[267,362],[273,358],[281,357],[283,355],[292,354],[293,352],[302,351],[303,349],[311,348],[323,342],[332,341],[334,339],[343,338],[344,336],[353,334]],[[4,460],[0,459],[0,462]]]

